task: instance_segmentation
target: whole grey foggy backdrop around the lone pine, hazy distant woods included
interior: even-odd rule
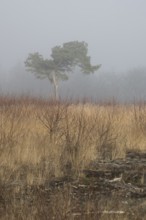
[[[146,99],[145,0],[0,0],[0,91],[48,96],[51,86],[25,71],[28,54],[86,41],[94,75],[72,74],[61,95]]]

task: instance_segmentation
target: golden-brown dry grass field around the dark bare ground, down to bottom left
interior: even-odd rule
[[[86,201],[73,214],[79,199],[70,185],[47,188],[54,180],[78,180],[99,158],[124,158],[127,149],[146,149],[143,103],[0,97],[0,218],[140,219],[101,212],[121,210],[117,198]]]

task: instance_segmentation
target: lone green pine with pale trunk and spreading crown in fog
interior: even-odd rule
[[[68,73],[73,72],[75,67],[79,67],[85,74],[94,73],[100,68],[100,65],[91,65],[87,53],[87,43],[72,41],[53,47],[51,59],[44,59],[38,52],[29,54],[25,66],[37,78],[48,78],[54,86],[55,99],[58,99],[59,82],[68,80]]]

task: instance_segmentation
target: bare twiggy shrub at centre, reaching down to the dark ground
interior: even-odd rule
[[[88,129],[84,106],[79,112],[66,108],[61,166],[67,175],[75,174],[81,168],[88,142]]]

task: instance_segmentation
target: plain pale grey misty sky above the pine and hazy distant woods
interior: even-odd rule
[[[93,64],[125,71],[145,66],[145,0],[0,0],[0,67],[30,52],[86,41]]]

